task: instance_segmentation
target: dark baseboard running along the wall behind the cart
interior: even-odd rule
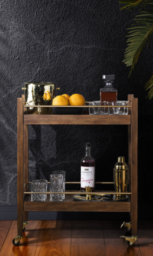
[[[138,209],[138,220],[152,220],[153,207]],[[17,220],[17,206],[0,206],[0,220]],[[29,220],[129,220],[127,212],[29,212]]]

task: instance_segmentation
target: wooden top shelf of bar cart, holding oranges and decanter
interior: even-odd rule
[[[24,95],[22,95],[22,98],[24,99]],[[84,107],[84,111],[81,115],[53,115],[53,114],[50,114],[50,115],[37,114],[36,115],[36,114],[28,114],[26,110],[27,110],[27,107],[29,106],[23,105],[24,124],[25,125],[29,125],[29,124],[130,125],[133,99],[134,99],[133,94],[129,94],[128,95],[129,106],[126,106],[129,108],[129,115],[89,115],[88,110],[91,106],[77,106],[77,107]],[[30,106],[30,107],[46,107],[46,106]],[[48,106],[48,107],[52,108],[53,106]],[[54,107],[60,107],[60,106],[54,106]],[[76,106],[64,106],[64,107],[76,107]],[[92,107],[96,107],[96,106],[92,106]],[[86,110],[87,108],[88,110]]]

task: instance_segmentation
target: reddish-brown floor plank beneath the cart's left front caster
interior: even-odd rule
[[[29,225],[23,232],[23,238],[19,246],[13,246],[12,240],[18,235],[17,222],[13,221],[1,250],[1,256],[33,256],[35,255],[42,221],[29,221]]]

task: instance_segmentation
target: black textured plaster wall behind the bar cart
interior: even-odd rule
[[[61,94],[80,93],[91,101],[99,100],[102,74],[116,75],[119,100],[128,93],[139,99],[139,206],[153,204],[152,101],[144,90],[152,42],[128,78],[122,63],[125,35],[137,11],[120,7],[117,0],[1,1],[1,205],[16,205],[16,98],[24,83],[54,81]],[[53,170],[65,170],[67,181],[79,181],[84,145],[91,142],[96,180],[113,181],[117,156],[128,162],[127,139],[126,126],[33,125],[29,179],[49,180]]]

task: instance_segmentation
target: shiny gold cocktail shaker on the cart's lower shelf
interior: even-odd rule
[[[114,174],[114,186],[116,193],[127,192],[129,183],[129,168],[128,164],[125,163],[124,156],[118,156],[118,162],[115,164],[113,169]],[[116,195],[117,197],[125,197],[124,195]]]

